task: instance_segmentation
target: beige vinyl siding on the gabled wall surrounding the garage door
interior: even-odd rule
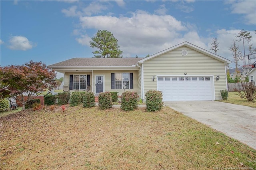
[[[188,55],[181,51],[186,49]],[[222,99],[220,90],[226,89],[225,65],[212,57],[199,53],[188,47],[180,47],[144,62],[144,94],[157,89],[157,81],[152,81],[153,75],[214,75],[215,99]],[[216,81],[216,76],[220,80]]]

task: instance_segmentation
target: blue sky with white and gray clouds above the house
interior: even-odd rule
[[[98,30],[114,34],[123,57],[145,57],[184,41],[209,50],[217,38],[217,54],[233,60],[229,48],[241,29],[256,45],[256,1],[1,1],[0,6],[1,66],[93,57],[96,49],[89,42]],[[246,54],[247,48],[246,42]]]

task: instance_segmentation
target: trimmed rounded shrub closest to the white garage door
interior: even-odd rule
[[[160,111],[164,105],[162,91],[150,90],[145,94],[146,96],[146,111],[155,112]]]

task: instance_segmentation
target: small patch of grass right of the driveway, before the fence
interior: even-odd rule
[[[244,105],[250,107],[256,107],[256,100],[248,101],[247,99],[242,99],[238,96],[238,92],[228,92],[228,100],[220,100],[225,103],[233,103],[236,105]]]

